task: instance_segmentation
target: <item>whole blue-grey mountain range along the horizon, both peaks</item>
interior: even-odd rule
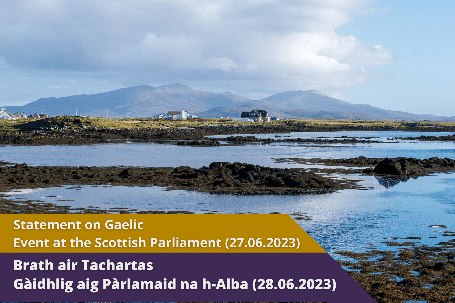
[[[265,109],[278,118],[379,119],[455,121],[455,117],[411,114],[380,109],[369,104],[352,104],[329,97],[317,90],[293,90],[253,100],[238,94],[193,89],[183,84],[158,87],[140,85],[100,94],[81,94],[61,98],[41,98],[23,106],[3,106],[10,112],[30,115],[92,115],[109,118],[150,117],[167,111],[187,110],[198,117],[240,117],[242,111]],[[109,109],[109,110],[107,110]]]

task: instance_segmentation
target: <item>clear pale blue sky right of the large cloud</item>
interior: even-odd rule
[[[379,1],[384,12],[358,16],[338,33],[383,45],[393,63],[387,76],[340,90],[351,103],[368,103],[416,114],[455,115],[454,1]]]

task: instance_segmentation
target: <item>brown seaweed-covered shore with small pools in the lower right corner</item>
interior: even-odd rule
[[[455,232],[447,230],[430,235],[441,238],[435,247],[418,245],[422,237],[390,237],[381,243],[399,250],[380,250],[367,243],[370,250],[365,253],[335,253],[353,259],[337,262],[378,303],[450,303],[455,296],[454,237]]]

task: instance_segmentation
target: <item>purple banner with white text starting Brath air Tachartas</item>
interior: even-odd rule
[[[328,253],[1,253],[0,301],[374,303]]]

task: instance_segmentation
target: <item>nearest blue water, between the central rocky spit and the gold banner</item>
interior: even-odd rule
[[[374,189],[344,189],[329,194],[209,194],[186,190],[160,190],[157,187],[113,188],[83,186],[81,189],[61,188],[28,189],[10,192],[12,199],[28,198],[71,205],[72,207],[127,207],[143,210],[187,210],[198,214],[216,211],[219,214],[279,212],[308,213],[311,221],[296,220],[326,251],[340,249],[364,251],[366,243],[383,249],[383,237],[423,237],[420,243],[433,245],[447,238],[430,228],[444,224],[454,230],[455,174],[436,174],[400,182],[399,178],[351,176],[364,180]],[[384,186],[385,185],[385,186]],[[60,197],[46,197],[56,195]],[[126,199],[126,197],[128,197]],[[57,202],[56,200],[74,200]],[[451,239],[451,238],[449,238]],[[402,240],[405,241],[405,240]],[[334,258],[339,258],[334,255]]]

